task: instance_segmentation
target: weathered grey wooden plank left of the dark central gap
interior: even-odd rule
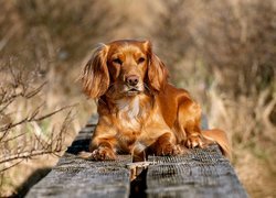
[[[75,155],[88,150],[93,124],[79,132],[59,164],[26,197],[128,197],[130,170],[126,164],[131,163],[130,155],[120,155],[117,161],[109,162],[85,161]]]

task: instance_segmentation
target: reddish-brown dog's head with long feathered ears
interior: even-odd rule
[[[162,90],[168,78],[149,41],[120,40],[100,44],[82,70],[83,89],[91,98],[136,96]]]

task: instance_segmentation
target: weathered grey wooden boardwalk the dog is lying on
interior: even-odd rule
[[[93,122],[94,119],[26,197],[247,197],[216,145],[195,148],[183,156],[149,156],[148,166],[135,169],[135,179],[129,155],[113,162],[81,160],[76,153],[88,150]]]

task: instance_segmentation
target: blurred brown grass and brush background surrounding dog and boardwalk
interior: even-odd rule
[[[251,197],[276,196],[276,1],[0,0],[0,196],[23,195],[91,114],[97,43],[145,38],[227,132]]]

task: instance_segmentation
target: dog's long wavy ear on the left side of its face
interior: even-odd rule
[[[91,98],[99,98],[109,87],[107,53],[108,46],[100,44],[82,70],[83,90]]]

